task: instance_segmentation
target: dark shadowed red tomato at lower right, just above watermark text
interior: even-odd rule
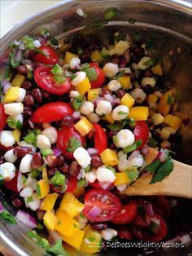
[[[137,228],[132,226],[131,232],[138,240],[159,242],[167,235],[166,223],[158,214],[153,214],[149,218],[149,227]]]

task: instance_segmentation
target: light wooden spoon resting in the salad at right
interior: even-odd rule
[[[141,176],[123,194],[128,196],[180,196],[192,199],[192,166],[173,160],[173,170],[161,182],[149,184],[152,175]]]

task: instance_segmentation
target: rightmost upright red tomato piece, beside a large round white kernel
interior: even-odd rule
[[[136,122],[133,135],[135,136],[135,141],[142,140],[142,144],[137,147],[137,149],[141,149],[149,138],[149,127],[147,126],[146,121]]]

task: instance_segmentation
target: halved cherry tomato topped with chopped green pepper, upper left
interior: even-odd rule
[[[37,85],[43,90],[46,90],[53,95],[63,95],[71,87],[70,78],[67,77],[66,81],[59,84],[54,75],[50,72],[51,67],[39,66],[35,69],[34,78]]]

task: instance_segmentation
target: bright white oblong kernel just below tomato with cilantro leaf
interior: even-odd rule
[[[91,157],[85,148],[76,148],[76,150],[73,152],[73,157],[82,168],[89,166],[91,161]]]

